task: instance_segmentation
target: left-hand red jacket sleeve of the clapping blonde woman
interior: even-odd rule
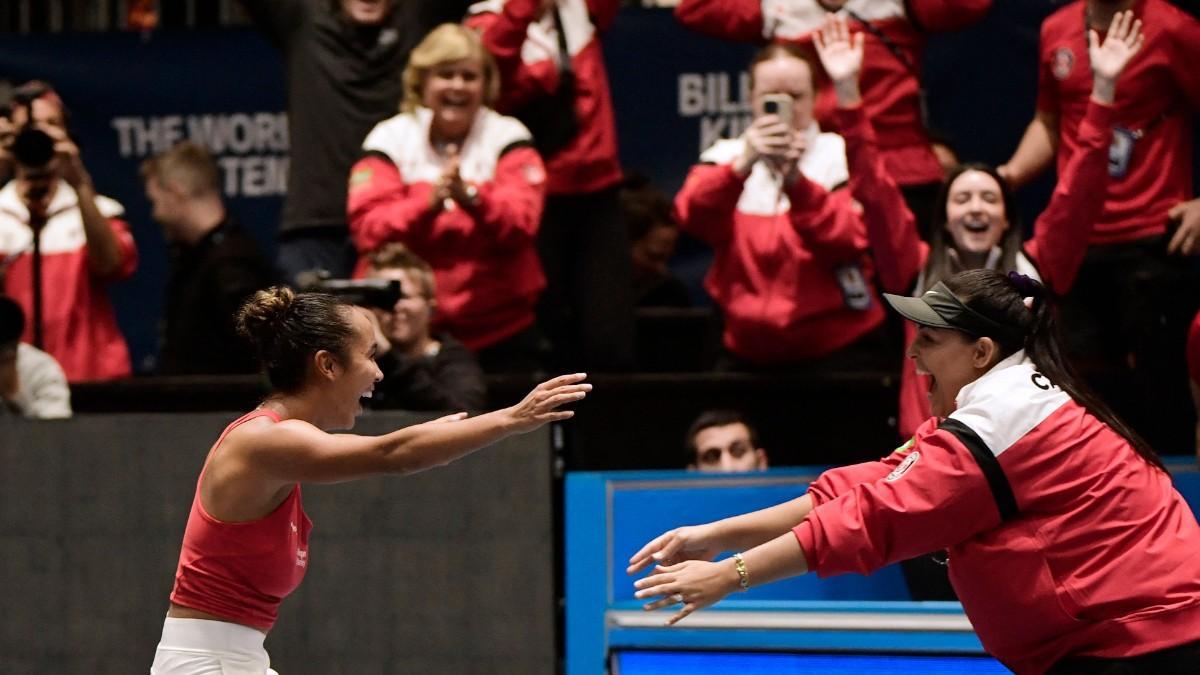
[[[359,160],[350,169],[347,199],[354,245],[364,253],[400,239],[419,246],[432,233],[432,196],[430,185],[406,184],[396,165],[383,156],[368,155]]]

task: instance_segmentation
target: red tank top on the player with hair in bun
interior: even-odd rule
[[[280,418],[271,411],[247,413],[226,428],[209,450],[238,425],[256,417]],[[235,623],[270,631],[280,603],[300,585],[308,569],[308,532],[312,521],[300,503],[300,484],[270,514],[246,522],[224,522],[209,515],[200,503],[200,480],[184,531],[175,587],[170,602],[221,616]]]

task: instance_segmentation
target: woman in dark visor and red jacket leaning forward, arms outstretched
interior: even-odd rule
[[[658,563],[636,597],[682,603],[674,623],[751,585],[946,549],[979,640],[1018,673],[1200,671],[1200,525],[1072,374],[1046,295],[990,269],[886,294],[919,327],[908,357],[936,417],[798,500],[655,538],[630,560],[631,573]]]

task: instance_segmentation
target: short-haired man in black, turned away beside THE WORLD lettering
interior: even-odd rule
[[[254,240],[226,210],[212,156],[185,141],[142,163],[151,216],[170,245],[158,372],[254,372],[234,316],[246,298],[275,282]]]

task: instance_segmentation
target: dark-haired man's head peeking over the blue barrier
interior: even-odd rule
[[[758,432],[734,411],[704,411],[688,429],[688,470],[744,473],[767,470],[767,450]]]

